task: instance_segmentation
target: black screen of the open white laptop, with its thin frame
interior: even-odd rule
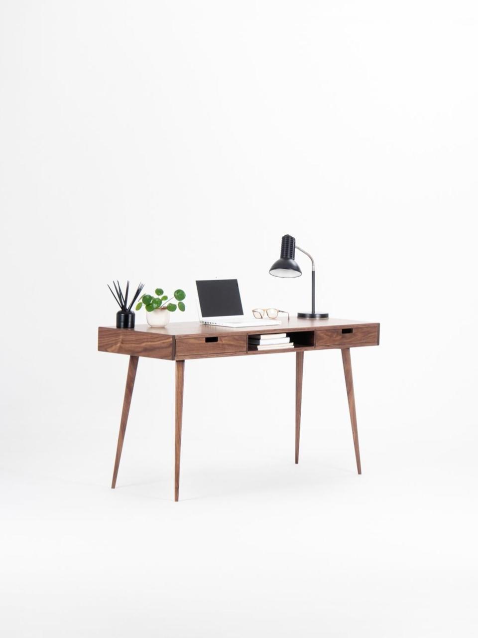
[[[243,315],[237,279],[203,279],[196,281],[203,317]]]

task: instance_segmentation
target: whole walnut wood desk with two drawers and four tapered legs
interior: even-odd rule
[[[249,349],[249,334],[266,332],[287,332],[294,348],[289,350],[252,350]],[[208,359],[209,357],[263,356],[271,354],[296,355],[296,463],[299,462],[300,411],[302,401],[302,370],[304,352],[308,350],[342,351],[345,386],[349,399],[349,411],[352,423],[357,470],[361,474],[360,454],[355,413],[354,385],[350,348],[357,346],[379,345],[379,323],[349,321],[345,319],[297,319],[275,326],[250,327],[245,329],[222,328],[203,325],[198,322],[171,323],[166,328],[151,328],[139,325],[133,330],[114,327],[98,329],[98,350],[129,355],[129,367],[124,392],[115,468],[112,487],[116,486],[118,468],[123,447],[124,433],[133,394],[134,378],[139,357],[167,359],[175,361],[175,485],[174,500],[179,498],[179,463],[181,453],[182,398],[184,389],[184,362],[186,359]]]

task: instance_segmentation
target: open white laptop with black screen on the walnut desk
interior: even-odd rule
[[[244,316],[237,279],[202,279],[196,281],[196,288],[201,323],[226,328],[280,324],[275,319],[249,319]]]

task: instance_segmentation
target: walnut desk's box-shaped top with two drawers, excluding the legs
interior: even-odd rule
[[[138,325],[134,329],[99,327],[98,350],[155,359],[200,359],[234,355],[257,355],[324,348],[349,348],[379,344],[379,323],[350,319],[282,320],[264,327],[226,328],[199,322],[169,323],[164,328]],[[248,344],[249,334],[294,334],[294,348],[257,350]]]

